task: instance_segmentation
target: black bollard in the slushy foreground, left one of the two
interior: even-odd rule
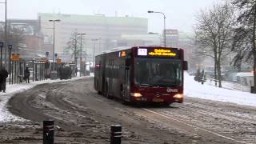
[[[54,144],[54,121],[43,121],[42,144]]]

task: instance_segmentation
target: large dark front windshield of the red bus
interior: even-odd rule
[[[179,86],[182,83],[180,60],[136,58],[134,68],[138,86]]]

